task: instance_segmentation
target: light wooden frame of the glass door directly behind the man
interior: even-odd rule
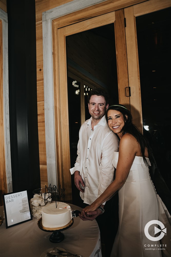
[[[115,16],[117,18],[115,18]],[[117,10],[107,14],[93,17],[78,23],[74,23],[62,28],[57,28],[53,22],[53,67],[54,67],[54,106],[58,106],[55,112],[56,144],[61,146],[57,150],[59,163],[60,184],[63,183],[65,190],[65,200],[70,201],[71,174],[70,167],[70,145],[69,145],[69,115],[68,115],[68,89],[67,89],[67,56],[66,56],[66,36],[94,29],[106,24],[115,23],[115,41],[117,56],[118,88],[119,101],[124,102],[129,107],[129,97],[125,96],[125,87],[128,87],[128,65],[126,56],[125,23],[124,10]],[[56,44],[57,43],[57,44]],[[58,45],[58,47],[57,47]],[[59,77],[59,79],[56,79]],[[57,92],[59,95],[57,95]],[[59,104],[60,103],[60,104]],[[65,108],[63,108],[65,106]],[[60,118],[61,117],[61,118]],[[57,148],[56,148],[57,149]],[[60,156],[59,156],[60,155]],[[63,178],[62,178],[63,177]]]

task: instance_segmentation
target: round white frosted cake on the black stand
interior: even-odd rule
[[[63,227],[67,225],[71,219],[71,207],[66,203],[51,203],[42,208],[42,225],[46,228]]]

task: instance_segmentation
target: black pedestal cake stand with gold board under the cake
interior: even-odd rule
[[[44,227],[42,225],[42,218],[40,218],[37,222],[37,225],[39,226],[39,228],[43,231],[46,231],[46,232],[53,232],[52,235],[50,236],[49,240],[52,242],[52,243],[59,243],[61,241],[64,240],[64,234],[61,233],[61,231],[63,230],[66,230],[68,229],[69,227],[71,227],[74,223],[74,220],[73,218],[71,219],[71,221],[63,226],[63,227],[59,227],[59,228],[48,228],[48,227]]]

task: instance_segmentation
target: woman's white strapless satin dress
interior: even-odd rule
[[[119,152],[113,153],[112,162],[115,168],[118,154]],[[151,165],[149,159],[146,158],[146,160]],[[165,256],[170,256],[168,253],[170,252],[171,233],[169,218],[170,215],[150,179],[148,167],[142,157],[135,156],[127,180],[119,189],[119,227],[111,257],[158,257],[162,256],[161,250],[158,250],[161,248],[166,249],[163,251]],[[160,247],[163,242],[151,241],[144,233],[145,225],[153,220],[165,222],[167,238],[165,235],[164,243],[167,244],[166,247]],[[153,237],[155,226],[157,227],[156,224],[153,224],[148,229],[148,233]]]

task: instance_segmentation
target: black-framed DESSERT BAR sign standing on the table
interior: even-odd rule
[[[6,228],[32,220],[27,191],[3,195]]]

